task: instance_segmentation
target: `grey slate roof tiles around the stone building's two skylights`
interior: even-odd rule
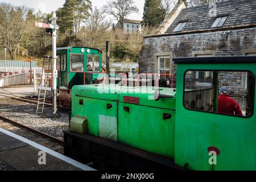
[[[228,0],[216,3],[217,16],[229,15],[223,28],[243,26],[256,23],[256,1],[255,0]],[[189,21],[182,32],[212,30],[216,17],[209,16],[209,5],[183,9],[175,19],[174,23],[164,34],[173,34],[172,31],[180,22]]]

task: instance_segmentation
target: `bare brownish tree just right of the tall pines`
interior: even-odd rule
[[[105,20],[104,10],[94,7],[89,11],[89,18],[86,20],[85,30],[89,38],[90,47],[101,47],[105,45],[106,30],[111,23]]]

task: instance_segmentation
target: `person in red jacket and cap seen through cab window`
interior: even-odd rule
[[[226,86],[220,89],[218,97],[218,113],[242,116],[242,111],[237,101],[228,96],[229,89]]]

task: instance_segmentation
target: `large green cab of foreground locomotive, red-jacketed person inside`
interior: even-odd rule
[[[191,57],[174,62],[175,163],[193,170],[255,170],[256,57]],[[229,92],[221,94],[222,87]]]

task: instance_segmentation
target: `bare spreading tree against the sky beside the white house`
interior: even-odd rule
[[[139,9],[134,5],[133,0],[112,0],[108,1],[104,5],[105,13],[114,16],[114,19],[117,20],[123,28],[123,19],[125,16],[138,13]]]

